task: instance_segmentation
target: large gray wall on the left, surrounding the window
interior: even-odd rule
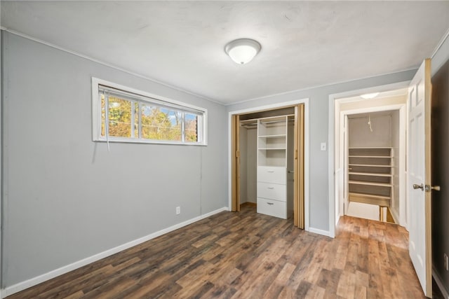
[[[225,106],[2,38],[3,287],[227,206]],[[108,152],[92,141],[92,76],[208,109],[208,146],[111,144]]]

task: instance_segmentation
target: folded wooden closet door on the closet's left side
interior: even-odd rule
[[[240,211],[240,116],[232,116],[232,209]]]

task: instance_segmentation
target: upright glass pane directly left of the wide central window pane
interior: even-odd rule
[[[109,96],[109,136],[131,137],[131,102]]]

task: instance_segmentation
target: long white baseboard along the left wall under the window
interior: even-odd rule
[[[83,266],[88,265],[90,263],[93,263],[93,262],[95,262],[97,260],[101,260],[102,258],[106,258],[107,256],[112,256],[115,253],[118,253],[118,252],[123,251],[125,249],[128,249],[130,247],[133,247],[133,246],[138,245],[140,243],[147,242],[150,239],[154,239],[155,237],[159,237],[161,235],[164,235],[167,232],[172,232],[173,230],[177,230],[178,228],[182,228],[182,227],[184,227],[186,225],[189,225],[189,224],[192,224],[192,223],[194,223],[196,221],[200,221],[200,220],[202,220],[204,218],[208,218],[209,216],[212,216],[214,214],[220,213],[221,211],[228,211],[228,208],[227,207],[222,207],[221,209],[216,209],[215,211],[211,211],[211,212],[209,212],[207,214],[203,214],[201,216],[192,218],[192,219],[184,221],[182,223],[175,224],[173,226],[170,226],[169,228],[165,228],[163,230],[159,230],[158,232],[153,232],[150,235],[147,235],[145,237],[141,237],[139,239],[135,239],[135,240],[133,240],[131,242],[128,242],[128,243],[116,246],[116,247],[114,247],[112,249],[108,249],[106,251],[97,253],[97,254],[95,254],[93,256],[89,256],[88,258],[83,258],[82,260],[78,260],[75,263],[71,263],[69,265],[65,265],[64,267],[60,267],[60,268],[55,269],[53,271],[47,272],[45,274],[41,274],[41,275],[39,275],[37,277],[33,277],[32,279],[28,279],[28,280],[22,281],[22,282],[20,282],[18,284],[14,284],[13,286],[8,286],[8,287],[6,287],[6,288],[4,288],[4,289],[2,289],[0,291],[0,297],[1,298],[5,298],[8,295],[12,295],[14,293],[18,293],[20,291],[23,291],[23,290],[25,290],[25,288],[30,288],[32,286],[36,286],[37,284],[41,284],[43,281],[47,281],[49,279],[58,277],[58,276],[60,276],[62,274],[65,274],[65,273],[70,272],[72,270],[78,269],[79,267],[83,267]]]

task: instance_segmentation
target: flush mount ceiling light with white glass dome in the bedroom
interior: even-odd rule
[[[234,62],[246,64],[253,60],[260,48],[260,43],[253,39],[236,39],[225,46],[225,52]]]

